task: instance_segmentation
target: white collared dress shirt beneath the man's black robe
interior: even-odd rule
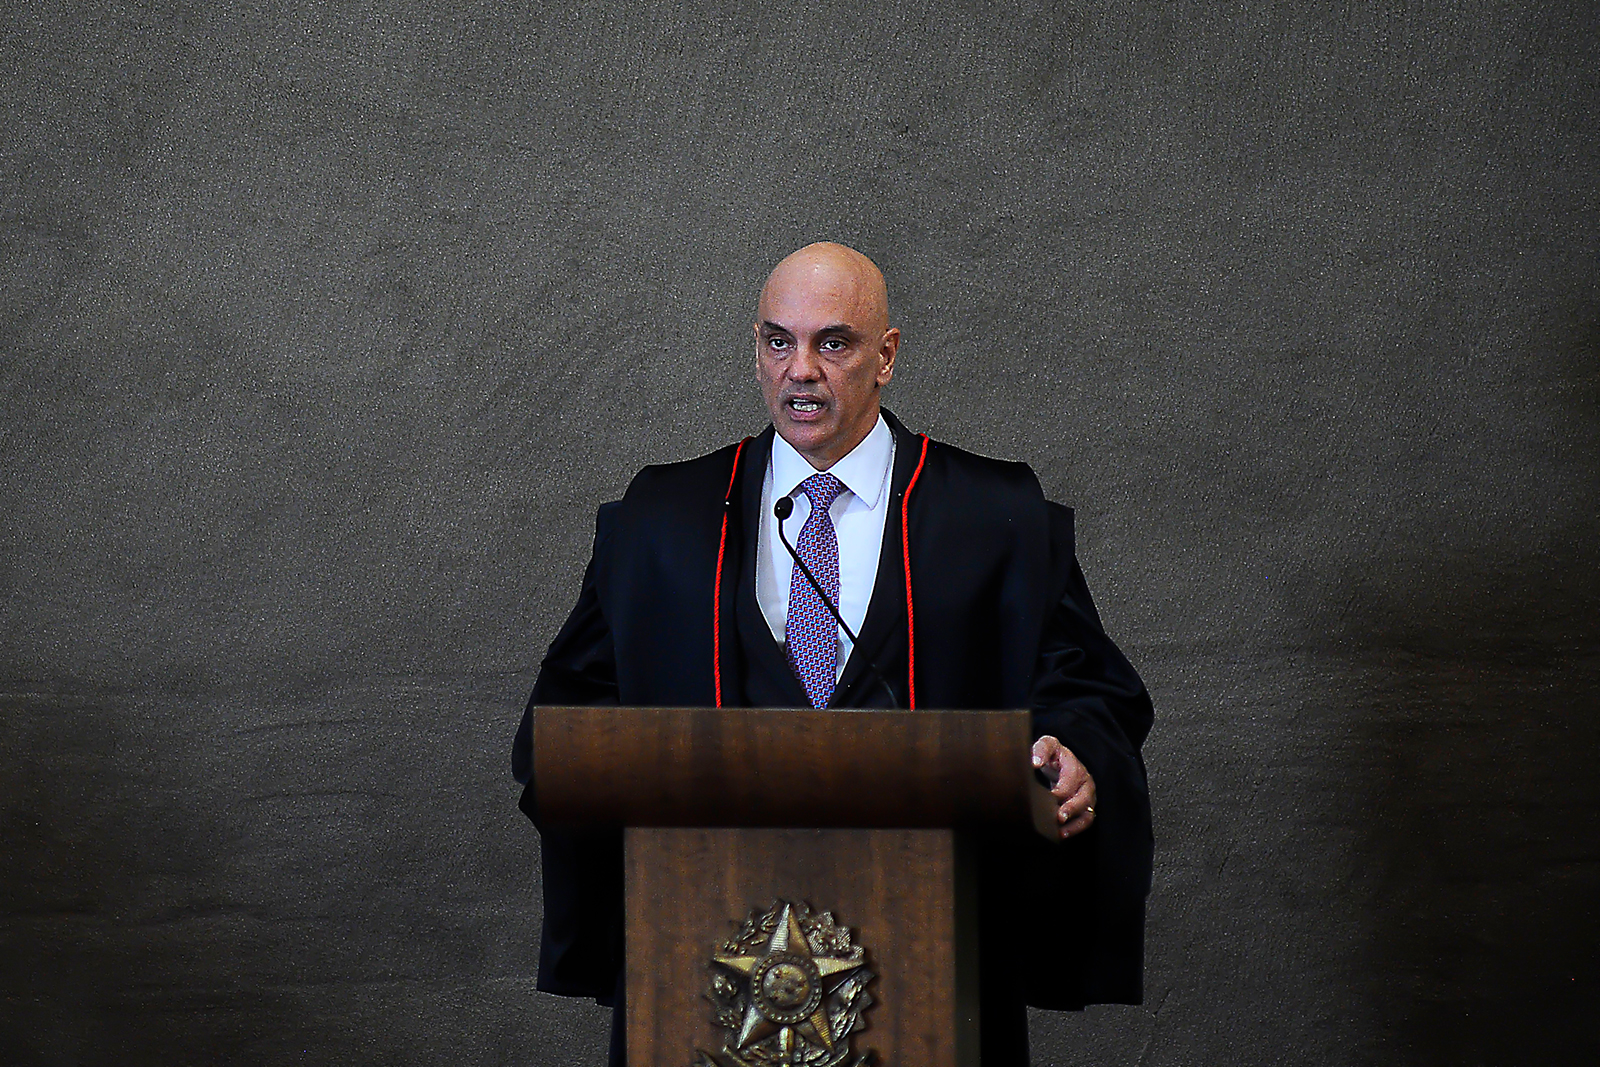
[[[894,469],[894,435],[888,422],[878,416],[877,426],[843,459],[827,469],[845,483],[827,514],[834,518],[838,537],[838,614],[850,629],[861,633],[872,603],[872,585],[878,577],[878,555],[883,550],[883,523],[890,514],[890,472]],[[816,474],[806,459],[789,442],[773,434],[773,456],[766,462],[766,478],[762,482],[762,525],[755,541],[755,601],[762,617],[773,632],[773,640],[784,643],[784,625],[789,621],[789,582],[794,577],[794,557],[778,539],[778,518],[773,502],[782,496],[794,498],[795,510],[784,522],[789,544],[800,536],[811,501],[800,491],[800,483]],[[800,576],[805,581],[805,576]],[[845,673],[850,659],[850,638],[838,632],[838,672]]]

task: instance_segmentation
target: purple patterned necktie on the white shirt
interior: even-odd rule
[[[814,474],[800,483],[800,491],[811,501],[811,514],[795,539],[795,555],[805,560],[816,584],[838,606],[838,534],[834,533],[834,517],[827,509],[845,491],[845,483],[830,474]],[[789,576],[784,641],[789,646],[789,665],[805,686],[811,707],[827,707],[838,678],[838,624],[798,563]]]

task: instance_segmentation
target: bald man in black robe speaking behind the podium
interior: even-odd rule
[[[578,606],[530,709],[1032,709],[1032,763],[1053,782],[1061,840],[979,843],[982,1062],[1027,1064],[1027,1003],[1142,995],[1150,701],[1101,629],[1072,512],[1046,502],[1024,464],[930,442],[880,410],[898,349],[866,256],[818,243],[779,262],[755,322],[771,427],[646,467],[600,509]],[[786,498],[782,533],[811,577],[779,537]],[[512,755],[525,784],[530,737],[525,715]],[[650,773],[650,753],[618,758]],[[522,806],[538,824],[531,785]],[[541,832],[539,989],[616,1005],[616,1065],[621,838]]]

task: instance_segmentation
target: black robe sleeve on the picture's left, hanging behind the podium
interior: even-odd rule
[[[616,504],[595,520],[595,545],[578,605],[550,643],[533,683],[533,696],[512,742],[512,774],[523,784],[522,811],[539,827],[544,929],[539,981],[547,993],[614,1000],[622,966],[622,835],[619,830],[565,830],[539,824],[533,784],[533,709],[616,704],[616,656],[611,627],[600,611],[595,584],[606,566]]]

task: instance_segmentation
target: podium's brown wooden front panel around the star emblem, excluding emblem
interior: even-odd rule
[[[638,1067],[722,1049],[709,960],[778,899],[832,912],[877,974],[856,1049],[882,1067],[976,1064],[970,870],[952,830],[629,829],[627,1043]]]

